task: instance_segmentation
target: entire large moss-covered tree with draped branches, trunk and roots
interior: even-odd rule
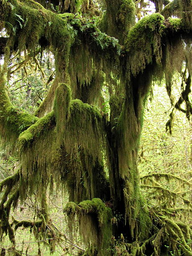
[[[64,211],[70,222],[79,218],[87,244],[84,255],[116,255],[118,238],[122,255],[172,255],[173,250],[192,255],[190,227],[148,209],[137,169],[151,82],[165,77],[170,87],[174,72],[182,74],[185,67],[181,97],[192,113],[192,1],[151,1],[161,13],[136,23],[138,2],[141,15],[143,1],[0,0],[0,30],[8,35],[0,39],[1,145],[20,159],[18,171],[0,182],[0,234],[8,233],[16,255],[14,228],[22,225],[31,227],[37,239],[51,238],[52,249],[59,241],[45,200],[53,183],[69,193]],[[31,115],[9,99],[9,61],[27,51],[19,69],[37,61],[44,50],[54,54],[56,77]],[[104,84],[110,92],[110,117],[102,111]],[[39,221],[10,223],[11,205],[34,192],[41,202]],[[185,203],[191,207],[189,200]]]

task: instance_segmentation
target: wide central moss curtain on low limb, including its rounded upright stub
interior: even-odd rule
[[[57,133],[54,112],[51,112],[20,134],[20,160],[26,186],[33,192],[39,180],[43,187],[54,177],[57,182],[67,185],[70,198],[77,202],[86,197],[105,197],[108,183],[102,165],[102,117],[96,108],[80,100],[69,103],[69,87],[60,84],[54,105]],[[98,179],[102,182],[97,192]]]

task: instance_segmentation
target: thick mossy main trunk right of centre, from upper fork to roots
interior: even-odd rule
[[[110,100],[107,126],[110,192],[120,218],[116,232],[123,233],[129,241],[137,240],[138,235],[147,237],[151,226],[138,172],[138,148],[151,83],[150,70],[151,67],[144,74],[126,79],[125,97],[113,96]]]

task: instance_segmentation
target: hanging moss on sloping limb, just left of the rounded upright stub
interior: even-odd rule
[[[25,189],[29,189],[30,193],[34,189],[42,186],[39,191],[46,187],[50,181],[51,159],[54,151],[51,151],[55,139],[55,117],[54,112],[40,118],[38,122],[31,125],[26,131],[19,136],[20,145],[20,162],[22,165],[22,184],[21,197],[26,197]],[[41,192],[39,192],[41,197]]]

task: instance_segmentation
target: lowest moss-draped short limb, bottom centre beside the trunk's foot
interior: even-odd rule
[[[79,218],[80,234],[84,242],[97,248],[97,255],[111,255],[112,218],[111,209],[106,207],[100,198],[93,198],[75,205],[73,202],[67,203],[64,212],[68,215],[77,214]],[[71,220],[71,219],[70,219]],[[92,255],[92,254],[87,254]]]

